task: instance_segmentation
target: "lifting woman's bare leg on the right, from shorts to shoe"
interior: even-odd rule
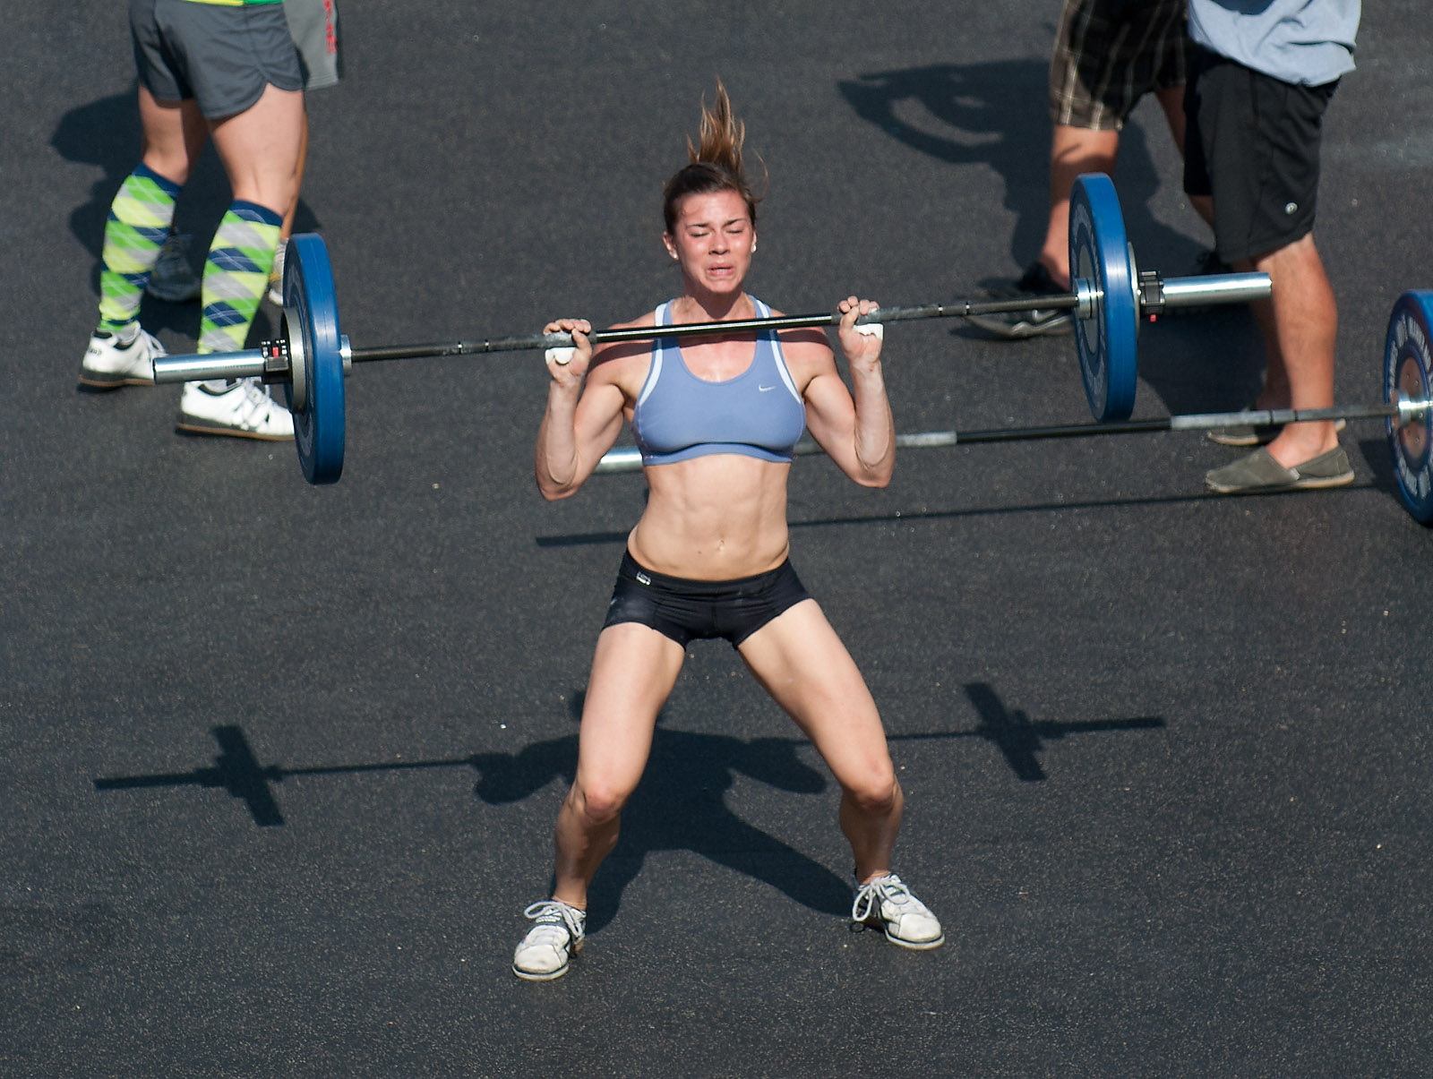
[[[841,833],[863,884],[890,873],[904,795],[866,679],[815,600],[741,643],[757,681],[795,719],[841,785]]]

